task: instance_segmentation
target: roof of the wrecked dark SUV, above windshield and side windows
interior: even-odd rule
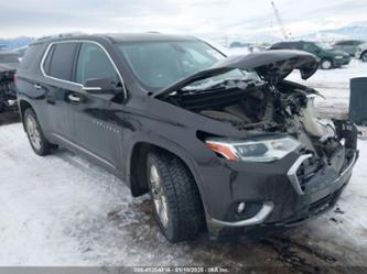
[[[64,40],[91,40],[91,39],[106,39],[111,43],[121,42],[150,42],[150,41],[197,41],[194,36],[188,35],[173,35],[173,34],[161,34],[155,32],[148,33],[108,33],[108,34],[79,34],[79,35],[56,35],[39,39],[35,43],[40,42],[54,42]]]

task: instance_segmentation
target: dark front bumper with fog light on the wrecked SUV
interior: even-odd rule
[[[328,163],[306,182],[300,180],[298,169],[311,157],[307,154],[292,153],[268,164],[227,163],[212,169],[216,179],[212,177],[211,194],[217,197],[211,202],[207,216],[212,238],[263,237],[266,232],[298,226],[333,208],[358,158],[354,125],[348,134],[345,146],[339,146]],[[238,213],[239,202],[246,202],[248,211]]]

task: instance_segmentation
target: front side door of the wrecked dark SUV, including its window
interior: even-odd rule
[[[97,43],[83,42],[75,65],[75,83],[83,86],[87,79],[110,79],[120,83],[116,66]],[[117,169],[122,157],[121,105],[108,97],[94,95],[80,87],[71,96],[71,128],[79,150],[109,169]]]

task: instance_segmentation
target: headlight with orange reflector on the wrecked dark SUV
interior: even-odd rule
[[[208,139],[206,146],[229,161],[272,162],[285,157],[301,143],[292,138],[261,141],[231,141]]]

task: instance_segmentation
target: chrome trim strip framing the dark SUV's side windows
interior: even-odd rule
[[[121,86],[122,86],[122,89],[123,89],[123,97],[125,99],[128,98],[128,94],[127,94],[127,90],[126,90],[126,86],[125,86],[125,81],[123,81],[123,78],[119,72],[119,69],[117,68],[114,59],[111,58],[111,56],[109,55],[109,53],[106,51],[106,48],[98,42],[96,41],[93,41],[93,40],[63,40],[63,41],[55,41],[55,42],[51,42],[47,47],[46,47],[46,51],[44,52],[43,56],[42,56],[42,59],[41,59],[41,63],[40,63],[40,69],[41,69],[41,73],[42,75],[45,77],[45,78],[50,78],[50,79],[53,79],[53,80],[57,80],[57,81],[62,81],[62,83],[66,83],[66,84],[72,84],[72,85],[75,85],[75,86],[78,86],[80,87],[82,89],[84,88],[84,86],[79,83],[75,83],[75,81],[69,81],[69,80],[64,80],[64,79],[60,79],[60,78],[56,78],[56,77],[53,77],[53,76],[50,76],[47,75],[45,72],[44,72],[44,62],[50,53],[50,50],[53,45],[55,44],[62,44],[62,43],[90,43],[90,44],[95,44],[97,46],[99,46],[104,52],[105,54],[107,55],[108,59],[110,61],[110,63],[112,64],[117,75],[119,76],[120,78],[120,81],[121,81]]]

